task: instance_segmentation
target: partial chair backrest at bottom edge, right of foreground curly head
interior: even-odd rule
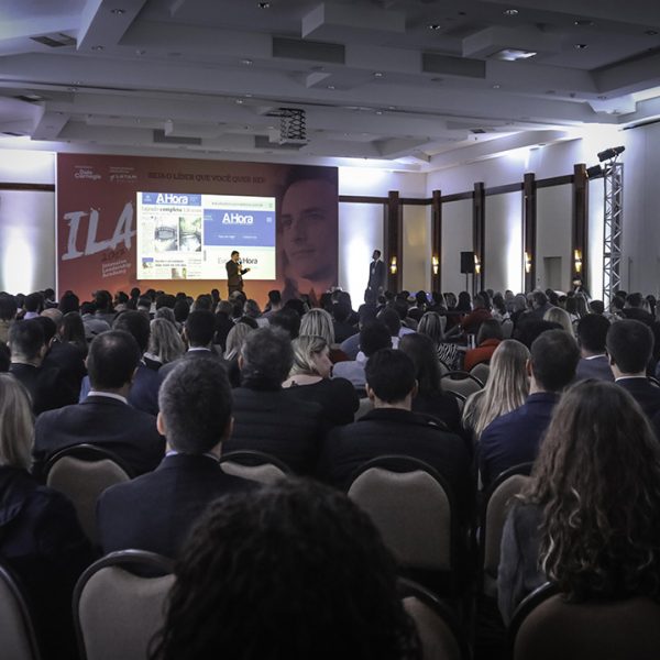
[[[465,636],[455,615],[433,593],[417,582],[399,578],[397,591],[404,609],[415,622],[421,641],[422,660],[464,660],[470,658]]]

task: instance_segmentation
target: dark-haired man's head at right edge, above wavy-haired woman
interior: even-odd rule
[[[653,350],[653,333],[641,321],[615,321],[605,340],[609,363],[616,377],[645,374]]]

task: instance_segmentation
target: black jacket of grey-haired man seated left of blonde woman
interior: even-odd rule
[[[289,389],[233,391],[234,430],[224,453],[253,449],[274,455],[298,474],[310,474],[323,437],[323,409]]]

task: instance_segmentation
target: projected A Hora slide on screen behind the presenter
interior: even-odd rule
[[[138,193],[138,279],[227,279],[241,253],[246,279],[275,279],[275,198]]]

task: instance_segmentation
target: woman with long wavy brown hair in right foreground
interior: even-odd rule
[[[574,385],[504,527],[505,622],[547,580],[570,601],[660,601],[658,484],[660,447],[639,406],[610,383]]]

